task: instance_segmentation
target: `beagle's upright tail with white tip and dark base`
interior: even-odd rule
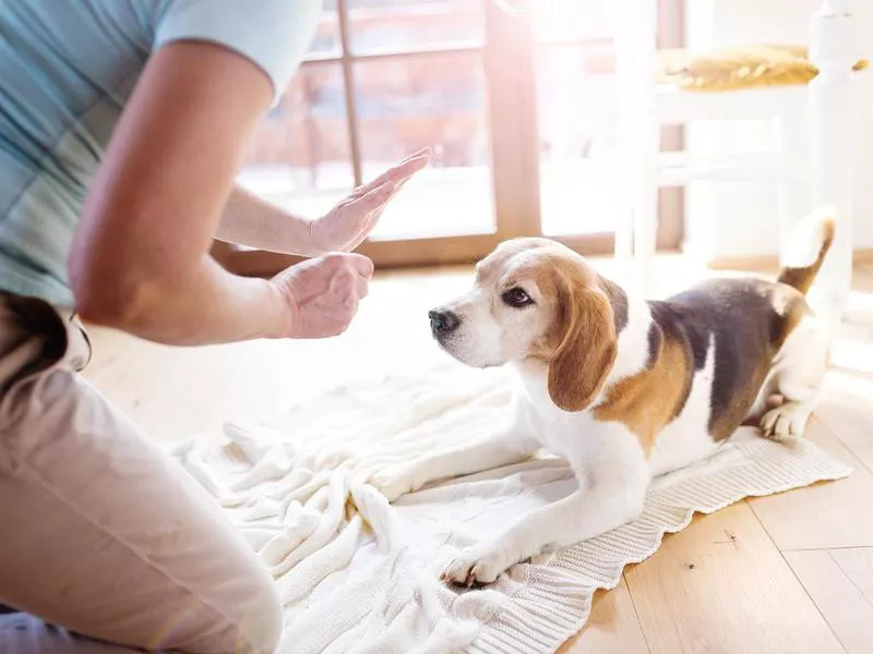
[[[806,294],[830,250],[835,231],[833,211],[812,214],[801,220],[782,253],[778,281]]]

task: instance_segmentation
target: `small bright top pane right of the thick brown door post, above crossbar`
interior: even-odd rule
[[[605,0],[534,0],[534,38],[540,43],[612,39],[614,8]]]

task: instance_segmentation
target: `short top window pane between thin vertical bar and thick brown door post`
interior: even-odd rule
[[[481,45],[483,1],[492,0],[348,0],[351,49],[363,53]]]

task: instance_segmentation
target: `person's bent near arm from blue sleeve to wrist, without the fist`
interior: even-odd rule
[[[84,319],[174,344],[292,331],[292,303],[206,254],[273,98],[250,60],[177,41],[148,60],[92,184],[70,256]]]

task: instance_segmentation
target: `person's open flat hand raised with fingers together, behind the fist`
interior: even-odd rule
[[[429,161],[430,148],[417,152],[372,182],[356,189],[326,216],[312,220],[310,234],[315,251],[355,250],[373,230],[388,201]]]

